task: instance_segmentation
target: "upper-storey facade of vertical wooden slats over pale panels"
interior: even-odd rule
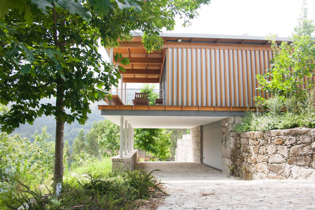
[[[271,48],[189,47],[168,48],[168,105],[254,107],[255,96],[266,98],[256,90],[256,74],[268,68]]]

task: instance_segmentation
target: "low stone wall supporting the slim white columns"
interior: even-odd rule
[[[127,155],[120,155],[112,157],[112,170],[113,171],[127,171],[134,170],[138,162],[138,150],[132,150]]]

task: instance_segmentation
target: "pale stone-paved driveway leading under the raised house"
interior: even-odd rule
[[[157,209],[315,209],[315,180],[229,177],[200,163],[138,162],[170,196]]]

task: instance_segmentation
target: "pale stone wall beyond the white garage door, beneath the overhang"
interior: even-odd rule
[[[201,126],[191,129],[191,134],[183,135],[177,139],[175,161],[202,162],[202,131]]]

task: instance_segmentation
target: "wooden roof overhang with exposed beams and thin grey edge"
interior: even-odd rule
[[[270,49],[270,43],[265,37],[258,36],[236,36],[236,35],[215,35],[215,34],[180,34],[180,33],[160,33],[163,39],[163,49],[147,53],[143,47],[141,36],[143,33],[133,33],[133,39],[130,42],[120,42],[119,46],[113,49],[113,54],[121,53],[123,57],[130,60],[129,65],[122,65],[125,72],[120,71],[123,75],[123,82],[126,83],[159,83],[162,75],[163,65],[166,56],[166,48],[187,48],[204,47],[213,45],[229,44],[244,45],[244,48],[252,48],[253,45],[266,45]],[[180,39],[180,43],[178,40]],[[287,37],[277,37],[277,43],[290,41]],[[246,46],[247,45],[247,46]],[[251,46],[248,46],[251,45]],[[106,52],[109,54],[109,50]],[[110,57],[110,56],[109,56]],[[115,62],[113,62],[115,64]]]

